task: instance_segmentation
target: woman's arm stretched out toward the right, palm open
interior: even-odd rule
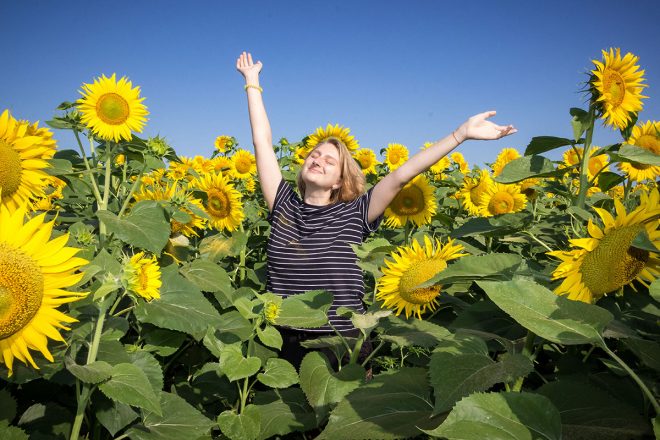
[[[431,168],[431,166],[445,157],[451,150],[458,147],[467,139],[490,140],[515,133],[513,125],[497,125],[488,118],[495,115],[495,111],[488,111],[472,116],[449,136],[422,150],[392,171],[376,184],[371,193],[369,203],[368,220],[376,220],[385,208],[392,202],[394,197],[401,191],[406,183],[414,179],[418,174]]]

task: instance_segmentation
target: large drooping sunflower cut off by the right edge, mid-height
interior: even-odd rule
[[[548,252],[561,260],[552,273],[552,279],[564,279],[555,289],[556,294],[594,303],[606,293],[632,286],[635,280],[648,286],[647,282],[658,277],[657,254],[631,245],[637,234],[646,232],[655,247],[660,247],[658,190],[642,192],[640,199],[640,205],[630,213],[614,199],[616,217],[605,209],[594,208],[603,221],[602,228],[589,220],[589,237],[569,240],[573,247],[569,251]]]

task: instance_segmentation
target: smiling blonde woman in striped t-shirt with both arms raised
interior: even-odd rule
[[[282,329],[282,355],[299,364],[304,350],[299,341],[334,329],[356,336],[351,321],[336,315],[337,307],[364,311],[362,271],[350,244],[361,243],[376,230],[385,208],[410,180],[426,171],[467,139],[499,139],[513,134],[513,126],[486,119],[494,111],[469,118],[450,135],[381,179],[364,192],[364,177],[346,146],[329,138],[314,146],[298,176],[300,197],[282,179],[273,150],[272,133],[259,85],[262,63],[243,52],[236,68],[245,78],[252,140],[261,189],[270,211],[271,234],[267,248],[267,289],[282,296],[326,289],[334,300],[328,313],[330,326],[320,329]],[[365,346],[368,350],[368,345]]]

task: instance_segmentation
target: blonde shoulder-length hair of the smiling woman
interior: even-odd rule
[[[307,155],[309,156],[312,154],[312,151],[323,144],[331,144],[337,148],[337,152],[339,153],[339,165],[341,166],[341,186],[337,189],[333,189],[330,193],[330,203],[350,202],[357,199],[364,194],[364,187],[366,185],[366,179],[364,178],[364,173],[362,173],[362,168],[360,168],[357,162],[353,159],[353,156],[346,145],[336,137],[329,137],[322,140],[316,144]],[[296,183],[298,184],[300,195],[304,198],[306,185],[302,179],[302,169],[298,173]]]

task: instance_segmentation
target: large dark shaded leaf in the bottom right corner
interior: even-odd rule
[[[646,418],[625,401],[589,385],[584,377],[560,378],[537,392],[559,410],[565,438],[616,440],[650,434]]]

